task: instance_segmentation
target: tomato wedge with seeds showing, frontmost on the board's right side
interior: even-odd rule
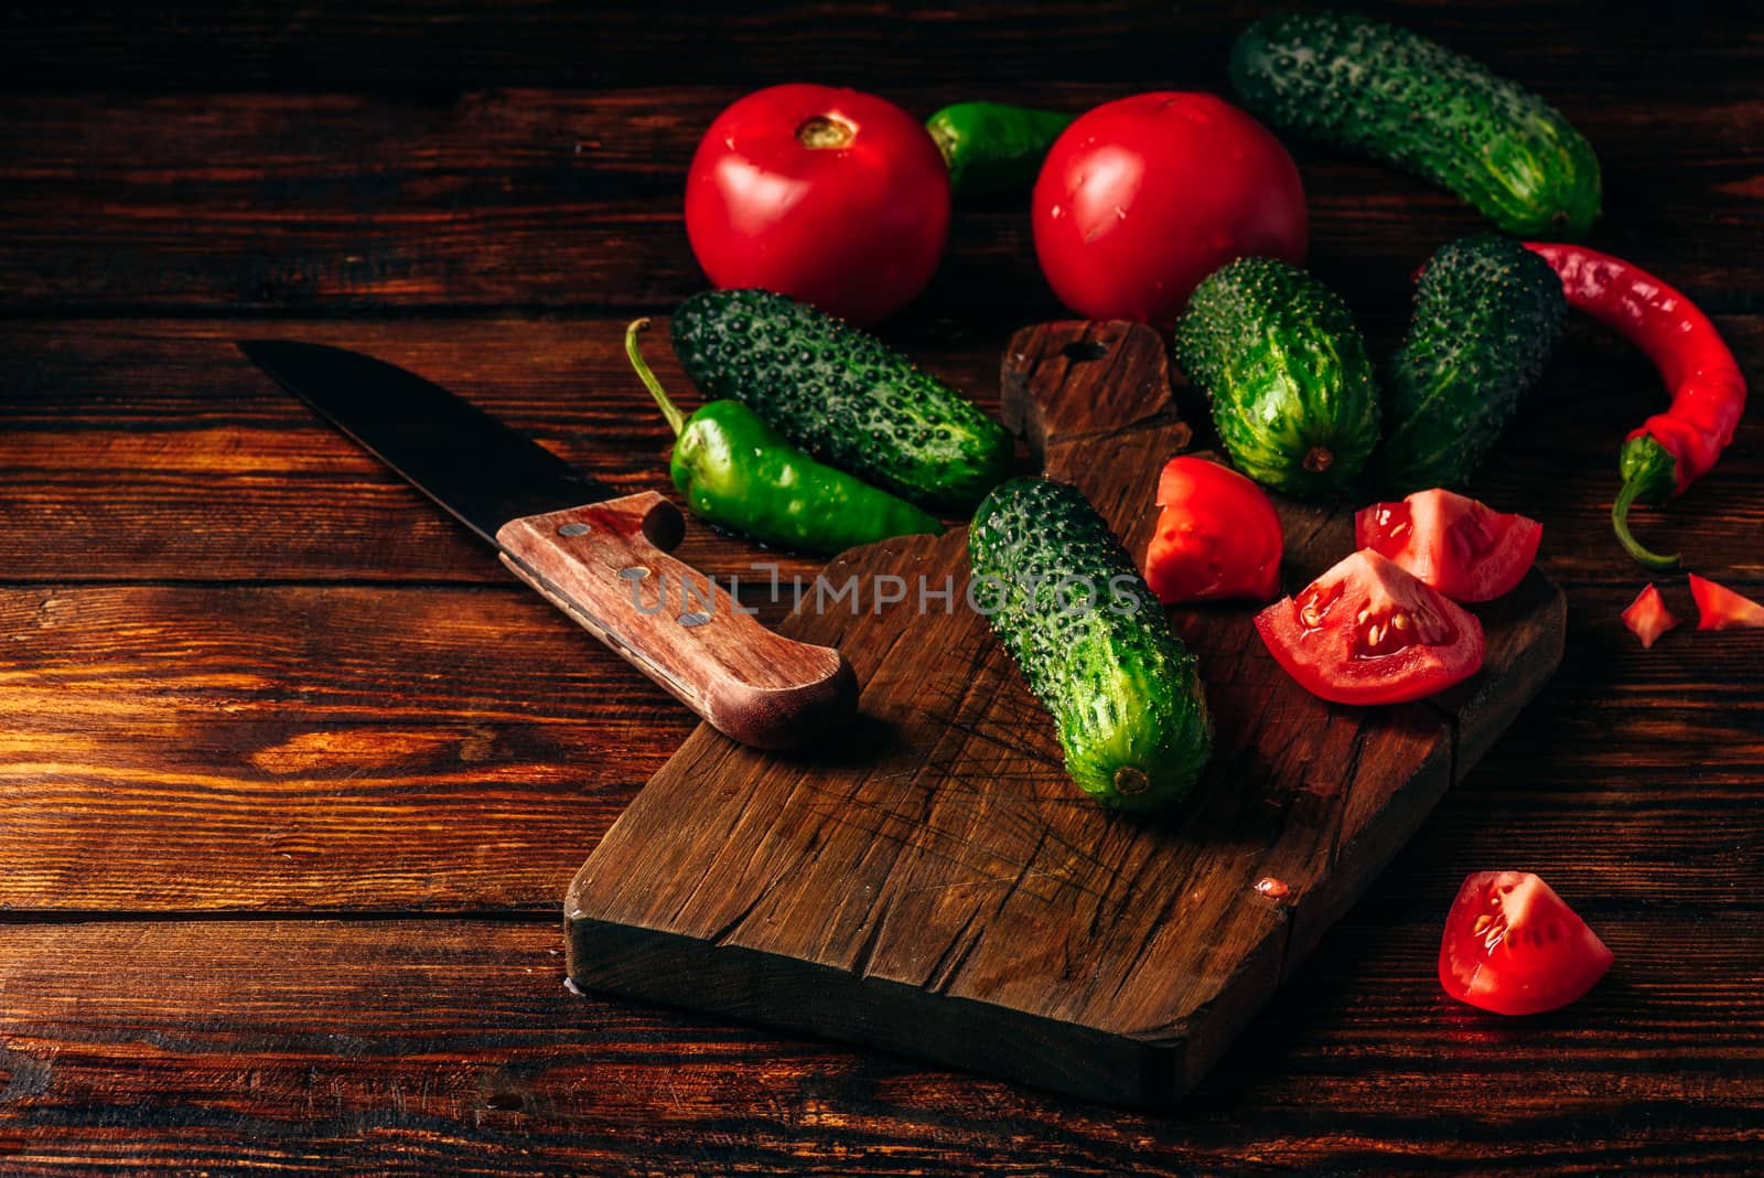
[[[1335,704],[1418,700],[1482,668],[1482,623],[1371,548],[1256,614],[1256,631]]]

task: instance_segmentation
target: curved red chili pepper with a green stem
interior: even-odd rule
[[[1648,568],[1676,568],[1630,534],[1630,504],[1660,504],[1709,473],[1734,439],[1746,407],[1746,379],[1734,353],[1695,303],[1621,257],[1584,245],[1526,242],[1561,275],[1568,305],[1621,332],[1642,349],[1672,390],[1672,406],[1648,418],[1623,443],[1623,490],[1611,504],[1618,540]]]

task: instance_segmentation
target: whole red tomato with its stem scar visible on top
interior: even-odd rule
[[[857,90],[757,90],[716,116],[686,175],[711,282],[868,324],[910,303],[949,233],[949,169],[924,127]]]

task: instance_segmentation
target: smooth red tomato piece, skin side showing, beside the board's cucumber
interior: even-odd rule
[[[1261,487],[1217,462],[1171,459],[1157,506],[1145,584],[1159,601],[1267,601],[1281,591],[1281,517]]]

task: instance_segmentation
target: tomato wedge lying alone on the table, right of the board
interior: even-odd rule
[[[1496,1014],[1565,1007],[1605,975],[1611,951],[1529,871],[1478,871],[1445,919],[1439,984]]]

